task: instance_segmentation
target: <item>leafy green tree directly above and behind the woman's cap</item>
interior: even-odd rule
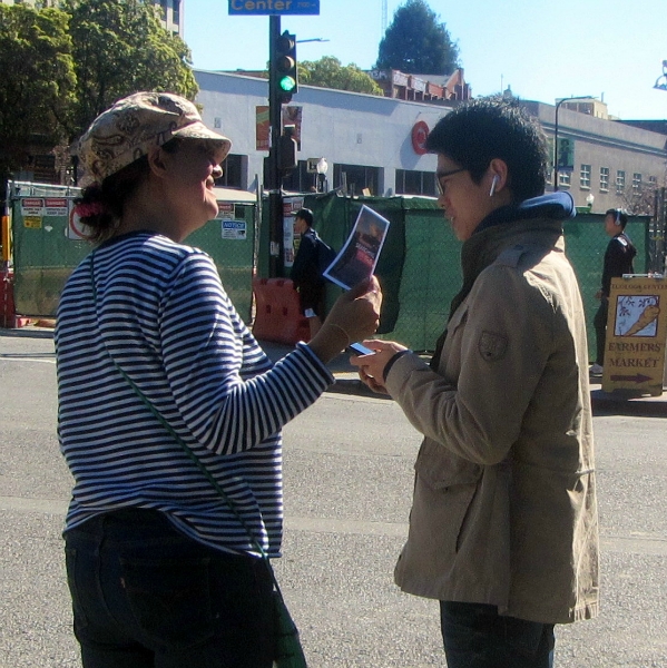
[[[161,27],[157,8],[141,0],[66,0],[77,73],[70,137],[79,136],[116,100],[139,90],[188,99],[197,84],[190,50]]]

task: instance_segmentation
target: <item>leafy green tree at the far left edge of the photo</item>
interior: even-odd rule
[[[26,165],[30,146],[55,146],[73,101],[68,16],[0,4],[0,179]]]

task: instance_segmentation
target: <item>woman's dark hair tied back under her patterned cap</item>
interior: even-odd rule
[[[183,139],[170,139],[161,146],[169,154],[178,150]],[[101,184],[94,183],[84,188],[75,199],[81,223],[87,227],[86,238],[101,244],[114,236],[128,199],[148,178],[148,156],[141,156],[116,174],[107,176]]]

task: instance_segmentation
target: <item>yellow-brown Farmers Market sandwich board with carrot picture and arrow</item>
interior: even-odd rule
[[[602,390],[663,394],[667,342],[667,281],[612,278]]]

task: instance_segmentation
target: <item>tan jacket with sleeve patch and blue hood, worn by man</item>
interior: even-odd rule
[[[561,234],[558,220],[530,219],[473,235],[464,279],[482,268],[438,372],[413,354],[389,371],[389,393],[424,435],[395,569],[406,592],[543,623],[597,615],[586,326]]]

